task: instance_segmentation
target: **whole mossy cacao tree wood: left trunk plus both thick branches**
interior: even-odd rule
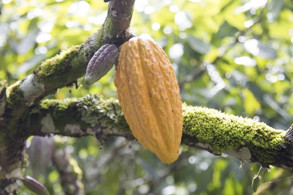
[[[94,53],[104,44],[121,45],[129,31],[135,0],[111,0],[102,28],[81,45],[42,62],[23,80],[7,86],[0,81],[0,195],[12,195],[26,166],[24,143],[32,135],[71,137],[122,136],[134,139],[116,99],[88,95],[79,99],[44,100],[58,88],[85,74]],[[242,162],[274,165],[293,172],[293,130],[273,129],[249,118],[183,104],[182,143],[226,153]]]

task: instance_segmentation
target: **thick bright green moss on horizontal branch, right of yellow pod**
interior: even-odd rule
[[[272,162],[276,147],[285,143],[285,131],[251,118],[187,105],[183,105],[183,110],[183,134],[210,144],[218,153],[245,146],[263,162]]]

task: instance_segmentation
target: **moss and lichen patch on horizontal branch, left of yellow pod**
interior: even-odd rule
[[[41,108],[49,111],[56,129],[61,133],[66,124],[78,124],[84,130],[94,127],[97,123],[105,127],[114,126],[120,130],[129,130],[117,99],[104,100],[97,95],[78,99],[47,99],[42,101]]]

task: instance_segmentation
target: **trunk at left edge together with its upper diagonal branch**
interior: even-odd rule
[[[87,63],[102,45],[121,45],[132,37],[129,26],[134,1],[111,0],[102,28],[84,43],[45,60],[32,74],[7,88],[0,81],[0,195],[12,195],[19,186],[12,176],[21,176],[25,164],[24,142],[28,135],[21,129],[29,126],[24,124],[30,117],[29,108],[83,77]]]

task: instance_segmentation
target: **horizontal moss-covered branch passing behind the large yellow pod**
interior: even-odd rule
[[[286,131],[276,130],[251,118],[236,117],[214,109],[183,104],[182,143],[240,159],[258,162],[262,166],[277,166],[293,172],[291,142]],[[116,99],[96,95],[65,100],[44,100],[32,110],[30,126],[24,131],[31,135],[48,134],[81,137],[93,135],[134,137]],[[288,132],[288,131],[287,131]]]

